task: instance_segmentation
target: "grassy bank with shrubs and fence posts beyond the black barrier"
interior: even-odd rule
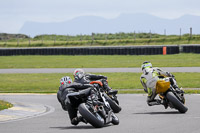
[[[134,46],[134,45],[177,45],[199,44],[200,35],[159,35],[149,33],[116,33],[91,35],[38,35],[34,38],[0,34],[0,47],[77,47],[77,46]],[[10,37],[9,37],[10,36]]]

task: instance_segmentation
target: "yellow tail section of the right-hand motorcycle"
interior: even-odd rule
[[[170,88],[170,82],[165,80],[158,80],[156,83],[156,93],[164,93]]]

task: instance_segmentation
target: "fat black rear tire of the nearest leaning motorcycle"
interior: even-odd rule
[[[83,118],[90,123],[95,128],[101,128],[104,126],[104,119],[98,114],[93,114],[88,110],[85,103],[82,103],[78,106],[79,113]]]

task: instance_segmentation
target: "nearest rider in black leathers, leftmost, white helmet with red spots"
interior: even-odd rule
[[[67,102],[66,97],[68,94],[77,92],[79,90],[88,89],[88,88],[93,89],[94,88],[93,85],[81,84],[81,83],[75,83],[75,82],[72,83],[71,78],[68,76],[61,78],[60,83],[61,85],[57,92],[57,98],[63,110],[68,111],[71,124],[77,125],[80,121],[86,123],[86,121],[83,119],[82,116],[77,116],[77,109],[73,108],[71,104]]]

